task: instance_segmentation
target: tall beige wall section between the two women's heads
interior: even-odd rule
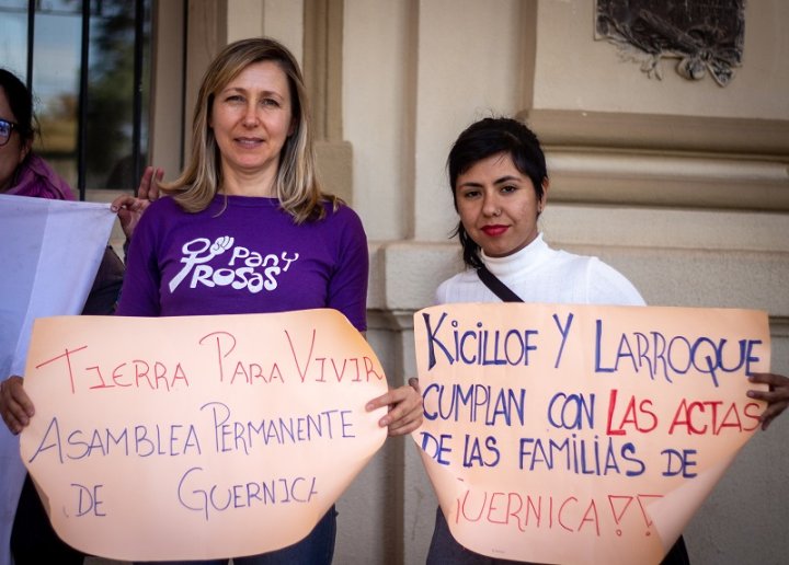
[[[343,119],[354,206],[374,219],[371,240],[446,240],[451,140],[477,117],[519,109],[522,4],[345,3]],[[496,41],[485,41],[492,31]]]

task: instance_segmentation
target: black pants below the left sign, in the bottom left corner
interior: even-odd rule
[[[16,565],[82,565],[85,556],[55,533],[30,475],[25,476],[16,505],[11,531],[11,554]]]

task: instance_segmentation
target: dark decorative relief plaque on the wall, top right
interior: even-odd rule
[[[676,57],[686,79],[709,70],[725,87],[742,64],[744,12],[745,0],[597,0],[596,38],[616,44],[650,78],[662,79],[661,59]]]

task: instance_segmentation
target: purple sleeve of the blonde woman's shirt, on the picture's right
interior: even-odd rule
[[[329,308],[342,312],[359,332],[367,330],[369,255],[362,220],[351,208],[338,214],[338,263],[329,281]]]

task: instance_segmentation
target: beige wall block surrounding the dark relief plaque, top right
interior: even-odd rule
[[[743,66],[719,88],[710,78],[689,84],[674,71],[676,59],[661,64],[662,80],[645,80],[638,64],[621,60],[614,46],[591,41],[594,2],[540,1],[534,107],[690,116],[789,117],[789,4],[747,2]],[[551,30],[550,33],[542,33]],[[572,56],[568,56],[572,54]]]

